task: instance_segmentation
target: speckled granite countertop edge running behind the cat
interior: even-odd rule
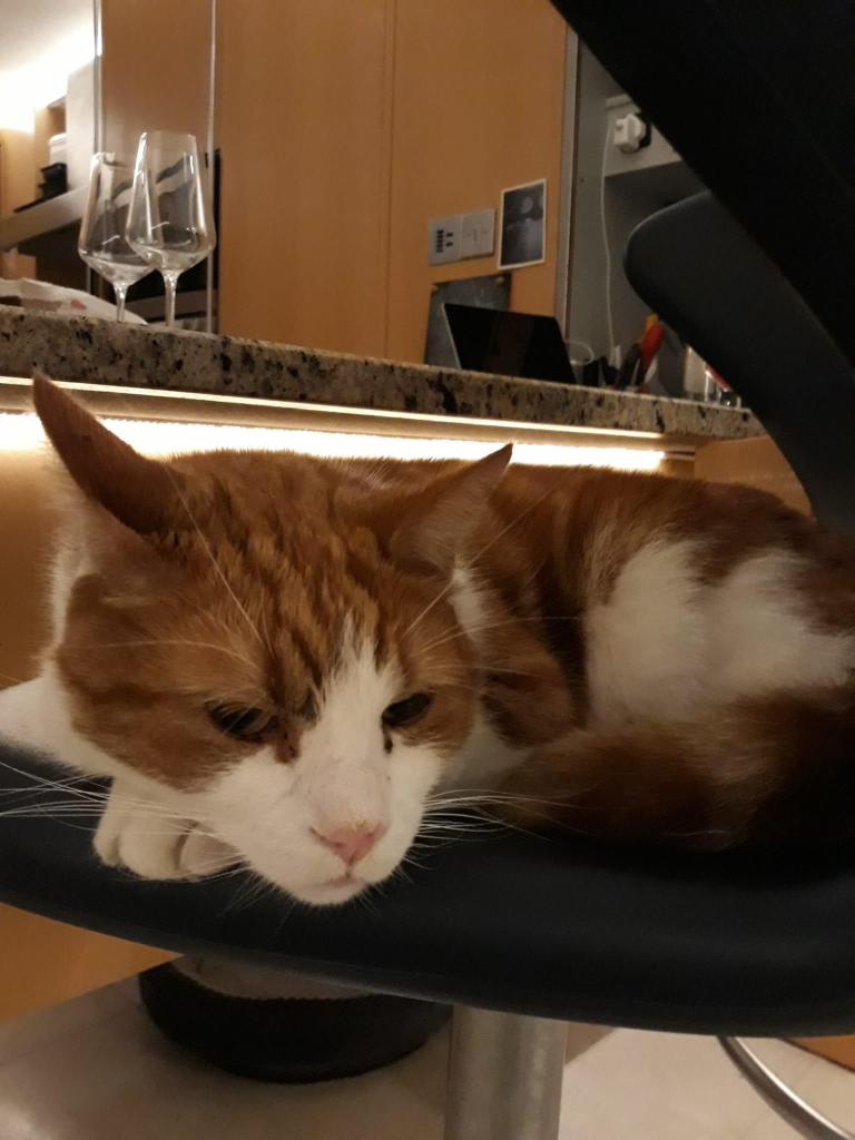
[[[207,333],[59,318],[0,306],[0,375],[465,416],[687,442],[762,434],[750,412],[691,400],[394,364]]]

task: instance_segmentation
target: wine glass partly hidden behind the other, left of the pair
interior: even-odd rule
[[[152,272],[124,236],[133,174],[128,162],[113,153],[92,156],[78,253],[106,278],[116,294],[116,320],[124,320],[128,290]]]

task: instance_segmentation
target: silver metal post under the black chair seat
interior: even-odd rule
[[[556,1140],[567,1025],[458,1007],[445,1140]]]

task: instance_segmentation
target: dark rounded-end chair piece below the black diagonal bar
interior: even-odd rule
[[[626,270],[744,398],[816,516],[855,532],[855,368],[783,274],[708,193],[642,222]]]

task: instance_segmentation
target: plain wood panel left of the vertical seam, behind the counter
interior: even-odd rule
[[[220,0],[220,329],[384,350],[393,0]]]

